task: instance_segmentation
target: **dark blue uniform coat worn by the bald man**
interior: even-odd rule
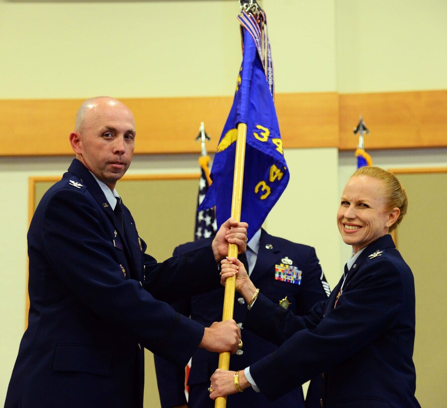
[[[124,205],[123,217],[124,230],[77,160],[42,198],[6,408],[143,407],[143,347],[186,364],[200,343],[204,327],[161,301],[220,285],[211,246],[157,264]]]

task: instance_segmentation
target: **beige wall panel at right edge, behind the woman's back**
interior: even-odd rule
[[[398,171],[398,170],[397,170]],[[399,171],[398,171],[399,172]],[[447,168],[444,173],[397,173],[408,195],[408,212],[397,229],[397,245],[413,271],[416,289],[416,397],[422,407],[447,399],[446,274]]]

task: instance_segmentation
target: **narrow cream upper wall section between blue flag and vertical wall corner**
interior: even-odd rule
[[[337,90],[334,0],[262,0],[276,92]]]

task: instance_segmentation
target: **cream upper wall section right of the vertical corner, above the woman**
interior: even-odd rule
[[[338,91],[447,88],[445,0],[336,0]]]

